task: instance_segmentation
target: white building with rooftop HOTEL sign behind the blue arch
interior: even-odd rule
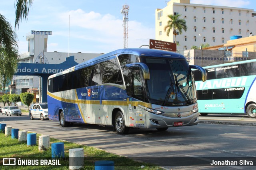
[[[26,36],[28,41],[28,52],[20,55],[20,63],[44,63],[44,64],[59,64],[63,63],[66,57],[74,56],[77,63],[82,63],[89,59],[98,57],[102,53],[62,53],[62,52],[47,52],[48,36],[51,36],[50,31],[31,31]],[[16,84],[16,94],[27,92],[27,89],[39,89],[38,76],[14,76],[13,83]]]

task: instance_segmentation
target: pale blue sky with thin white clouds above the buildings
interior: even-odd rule
[[[16,31],[19,53],[28,52],[31,30],[52,31],[47,52],[108,53],[124,47],[124,4],[128,14],[128,47],[148,45],[155,39],[155,10],[169,0],[34,0],[28,20]],[[0,14],[14,28],[17,0],[0,0]],[[256,8],[256,0],[190,0],[190,4]]]

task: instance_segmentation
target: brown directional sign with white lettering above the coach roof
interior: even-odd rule
[[[162,50],[174,51],[174,52],[176,52],[176,49],[177,49],[176,43],[163,42],[163,41],[152,40],[152,39],[149,39],[149,48],[162,49]]]

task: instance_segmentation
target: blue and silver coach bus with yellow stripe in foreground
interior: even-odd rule
[[[119,49],[48,78],[48,115],[62,127],[73,123],[129,128],[198,124],[191,68],[178,53],[158,49]]]

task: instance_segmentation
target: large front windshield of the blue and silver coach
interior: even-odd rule
[[[146,80],[150,103],[182,106],[196,102],[194,80],[186,60],[149,57],[140,60],[150,71],[150,79]]]

